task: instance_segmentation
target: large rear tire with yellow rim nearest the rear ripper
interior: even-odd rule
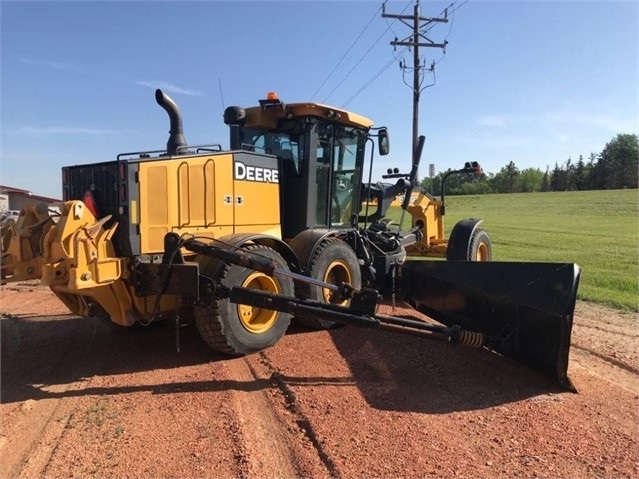
[[[271,248],[249,245],[243,249],[275,261],[279,269],[288,269],[282,256]],[[219,267],[217,261],[200,267],[203,275],[215,276],[216,283],[226,288],[241,286],[294,296],[293,280],[288,277],[270,277],[234,264],[224,263]],[[244,356],[273,346],[284,336],[291,320],[288,313],[236,304],[228,298],[216,298],[210,307],[196,306],[193,315],[204,342],[231,356]]]

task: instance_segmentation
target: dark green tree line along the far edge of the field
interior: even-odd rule
[[[441,195],[444,171],[421,182],[425,191]],[[587,160],[579,155],[554,168],[519,170],[514,162],[498,173],[450,175],[446,194],[530,193],[537,191],[612,190],[639,186],[639,141],[634,134],[618,134],[598,153]]]

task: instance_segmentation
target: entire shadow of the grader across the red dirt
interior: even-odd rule
[[[0,325],[3,403],[136,391],[154,394],[253,391],[273,386],[271,378],[178,379],[140,386],[56,388],[96,375],[177,370],[234,359],[211,351],[193,324],[179,329],[180,352],[176,350],[175,325],[170,321],[133,329],[71,314],[10,315],[2,317]],[[295,323],[287,334],[301,333],[323,334],[309,332]],[[376,409],[444,414],[562,392],[538,373],[487,351],[348,326],[333,329],[329,334],[352,374],[343,384],[355,384]],[[280,376],[280,379],[298,387],[336,384],[335,378]]]

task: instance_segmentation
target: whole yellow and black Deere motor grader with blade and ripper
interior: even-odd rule
[[[233,356],[274,345],[294,317],[486,348],[574,391],[579,268],[489,261],[478,219],[446,239],[444,197],[411,199],[423,137],[409,173],[373,183],[366,147],[376,139],[387,154],[388,132],[355,113],[270,93],[225,110],[225,151],[188,145],[175,102],[155,97],[169,115],[166,149],[63,167],[59,216],[30,205],[4,232],[3,283],[39,278],[74,314],[122,326],[194,318]],[[406,232],[385,216],[398,195]],[[391,297],[438,324],[377,314]]]

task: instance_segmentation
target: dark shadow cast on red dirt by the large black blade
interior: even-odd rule
[[[362,396],[377,409],[446,414],[572,394],[487,350],[352,327],[330,334]]]

